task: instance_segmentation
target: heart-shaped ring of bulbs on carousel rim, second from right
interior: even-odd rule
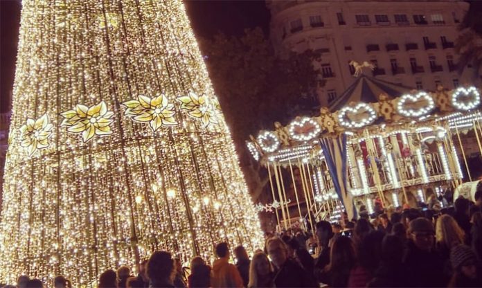
[[[418,103],[422,102],[421,105]],[[416,105],[418,107],[407,107],[409,105]],[[398,114],[405,117],[420,117],[428,114],[435,107],[434,98],[426,92],[420,92],[416,95],[405,94],[398,99],[397,110]]]

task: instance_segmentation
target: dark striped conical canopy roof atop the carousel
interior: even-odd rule
[[[406,87],[362,74],[329,108],[330,111],[337,111],[350,102],[378,102],[381,94],[386,94],[389,99],[393,99],[409,93],[411,90],[413,90],[412,87]]]

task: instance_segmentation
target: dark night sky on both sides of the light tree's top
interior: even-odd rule
[[[184,0],[197,37],[218,32],[242,35],[245,28],[260,26],[268,33],[269,10],[264,0]],[[0,113],[10,109],[17,57],[20,1],[0,0]]]

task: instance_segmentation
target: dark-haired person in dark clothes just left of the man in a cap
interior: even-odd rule
[[[401,223],[399,223],[401,224]],[[402,225],[402,224],[401,224]],[[386,235],[382,242],[382,260],[367,287],[410,287],[407,267],[402,263],[405,242]]]

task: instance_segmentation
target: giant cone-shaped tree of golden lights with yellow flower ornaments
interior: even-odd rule
[[[0,282],[262,246],[181,0],[24,0]]]

